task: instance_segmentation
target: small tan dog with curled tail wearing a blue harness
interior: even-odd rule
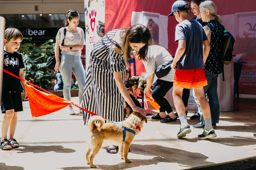
[[[100,123],[96,124],[95,121],[99,121]],[[99,152],[103,142],[108,142],[115,146],[121,145],[119,147],[119,155],[121,159],[124,159],[126,163],[131,163],[131,160],[127,159],[127,155],[135,135],[132,132],[125,130],[126,136],[123,142],[123,129],[113,122],[104,122],[105,120],[101,116],[92,116],[88,121],[88,126],[91,132],[91,141],[86,153],[86,163],[90,164],[91,168],[96,168],[96,165],[93,165],[93,158]],[[141,128],[143,128],[144,122],[147,123],[146,117],[138,112],[133,112],[125,121],[118,123],[121,124],[123,128],[133,130],[136,135],[138,135]]]

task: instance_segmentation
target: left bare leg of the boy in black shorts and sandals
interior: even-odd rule
[[[7,139],[7,131],[10,126],[10,122],[11,122],[11,119],[13,118],[13,115],[14,115],[14,109],[5,111],[5,116],[3,117],[3,120],[2,120],[1,139]],[[7,142],[5,142],[5,143],[7,143]],[[11,148],[10,145],[6,145],[4,147]]]

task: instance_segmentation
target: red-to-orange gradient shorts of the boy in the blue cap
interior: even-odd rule
[[[205,70],[193,69],[193,70],[179,70],[175,69],[173,86],[182,88],[198,88],[207,85],[205,77]]]

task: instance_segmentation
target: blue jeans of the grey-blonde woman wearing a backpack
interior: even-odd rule
[[[205,69],[205,76],[207,80],[207,86],[203,87],[203,91],[205,92],[205,96],[208,99],[208,103],[210,105],[211,110],[211,122],[212,123],[219,123],[219,99],[218,99],[218,74],[210,73],[208,70]],[[193,97],[195,98],[195,102],[198,106],[198,113],[201,115],[201,124],[204,125],[205,122],[203,120],[202,111],[195,97],[195,93],[193,90]]]

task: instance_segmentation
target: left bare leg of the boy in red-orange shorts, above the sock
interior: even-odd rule
[[[185,105],[182,101],[182,91],[183,91],[182,87],[173,86],[173,101],[174,101],[174,106],[178,113],[178,116],[182,114],[186,115]]]

